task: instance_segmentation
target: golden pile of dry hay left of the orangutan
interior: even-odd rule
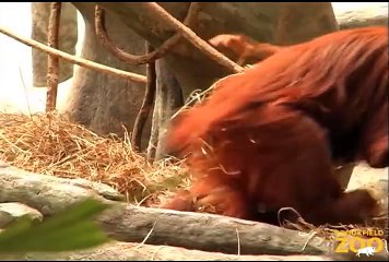
[[[123,139],[103,138],[55,112],[0,112],[0,159],[37,174],[104,182],[148,206],[190,184],[180,163],[148,163],[123,132]]]

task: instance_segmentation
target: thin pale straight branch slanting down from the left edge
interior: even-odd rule
[[[72,55],[69,55],[67,52],[60,51],[58,49],[48,47],[48,46],[46,46],[44,44],[40,44],[39,41],[33,40],[33,39],[28,39],[28,38],[25,38],[23,36],[20,36],[20,35],[16,35],[14,33],[11,33],[9,29],[5,29],[4,27],[1,27],[1,26],[0,26],[0,33],[4,34],[4,35],[7,35],[7,36],[20,41],[20,43],[23,43],[24,45],[27,45],[30,47],[36,48],[36,49],[38,49],[40,51],[44,51],[46,53],[50,53],[50,55],[54,55],[56,57],[62,58],[63,60],[67,60],[68,62],[78,64],[80,67],[84,67],[84,68],[87,68],[87,69],[96,70],[96,71],[99,71],[99,72],[103,72],[103,73],[106,73],[106,74],[113,74],[113,75],[116,75],[116,76],[120,76],[120,78],[127,79],[129,81],[134,81],[134,82],[139,82],[139,83],[146,83],[148,82],[148,79],[144,75],[126,72],[126,71],[122,71],[122,70],[119,70],[119,69],[114,69],[114,68],[110,68],[110,67],[107,67],[107,66],[104,66],[104,64],[101,64],[101,63],[96,63],[96,62],[93,62],[93,61],[90,61],[90,60],[86,60],[86,59],[83,59],[83,58],[78,58],[75,56],[72,56]]]

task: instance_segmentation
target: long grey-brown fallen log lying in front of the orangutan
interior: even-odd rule
[[[221,215],[121,205],[98,222],[117,240],[241,254],[322,254],[325,239]]]

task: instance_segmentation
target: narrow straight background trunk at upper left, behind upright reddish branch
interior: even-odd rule
[[[32,38],[47,44],[47,27],[50,16],[50,2],[32,2]],[[76,10],[70,3],[62,3],[59,49],[75,55],[78,40]],[[47,86],[47,55],[33,48],[33,84],[34,86]],[[73,64],[59,60],[59,83],[73,76]]]

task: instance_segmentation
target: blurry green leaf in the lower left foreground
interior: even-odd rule
[[[0,233],[0,253],[75,251],[105,243],[108,237],[94,217],[107,207],[87,199],[37,225],[21,217]]]

